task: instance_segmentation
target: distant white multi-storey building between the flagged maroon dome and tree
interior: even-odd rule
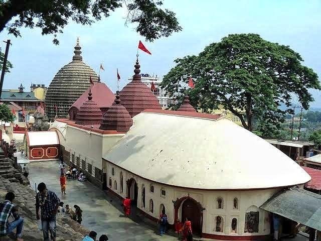
[[[161,88],[161,86],[159,86],[162,83],[161,78],[157,77],[157,75],[152,75],[150,76],[149,74],[140,74],[141,76],[141,82],[143,82],[144,84],[146,84],[149,88],[151,87],[151,83],[153,82],[155,85],[156,90],[153,91],[151,90],[157,97],[159,104],[162,106],[163,109],[166,109],[169,104],[174,104],[175,100],[173,100],[172,97],[168,96],[166,94],[165,89]],[[129,81],[132,80],[132,78],[128,79]]]

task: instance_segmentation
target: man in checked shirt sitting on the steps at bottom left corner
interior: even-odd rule
[[[0,203],[0,237],[6,236],[13,232],[15,228],[16,238],[18,241],[23,241],[22,228],[24,226],[24,219],[19,216],[18,208],[12,203],[15,199],[15,194],[13,192],[8,192],[6,194],[6,200]],[[9,222],[9,217],[13,216],[14,221]]]

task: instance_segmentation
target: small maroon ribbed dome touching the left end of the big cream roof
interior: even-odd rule
[[[119,95],[115,102],[104,114],[100,128],[101,130],[116,130],[117,132],[128,132],[132,126],[132,118],[127,109],[120,104]]]

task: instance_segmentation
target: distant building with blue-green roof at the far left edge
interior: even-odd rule
[[[35,113],[41,99],[38,99],[32,91],[25,92],[24,88],[21,84],[18,89],[3,89],[1,102],[14,102],[21,106],[27,113]],[[19,116],[19,118],[21,117],[22,116]]]

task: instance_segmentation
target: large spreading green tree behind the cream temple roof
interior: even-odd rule
[[[232,34],[198,56],[176,59],[177,65],[164,76],[162,86],[176,99],[188,93],[192,105],[206,112],[222,104],[252,131],[254,117],[259,123],[276,126],[286,113],[292,114],[291,108],[282,110],[280,105],[289,107],[293,94],[308,108],[313,101],[308,89],[320,89],[320,84],[317,74],[302,61],[289,46],[268,42],[257,34]],[[195,81],[193,89],[188,89],[189,76]]]

